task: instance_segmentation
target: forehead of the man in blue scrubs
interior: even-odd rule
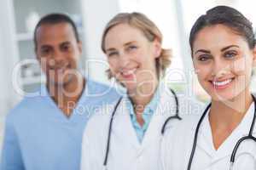
[[[43,24],[36,32],[38,45],[44,43],[66,42],[76,40],[73,27],[66,22]]]

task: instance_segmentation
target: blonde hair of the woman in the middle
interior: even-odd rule
[[[160,43],[162,42],[162,34],[154,22],[148,19],[148,17],[141,13],[120,13],[113,17],[105,27],[102,34],[102,51],[106,54],[105,49],[105,38],[108,31],[119,24],[128,24],[133,26],[140,31],[143,31],[145,37],[147,37],[149,42],[153,42],[157,39]],[[161,48],[160,57],[156,59],[156,71],[157,76],[160,78],[165,75],[166,68],[171,64],[171,49]],[[106,71],[108,73],[108,78],[113,77],[110,70]]]

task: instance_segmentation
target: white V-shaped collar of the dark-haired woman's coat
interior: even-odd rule
[[[241,139],[241,137],[249,133],[249,130],[253,121],[254,103],[250,105],[247,111],[247,114],[244,116],[241,123],[238,125],[238,127],[236,127],[233,133],[231,133],[230,136],[224,141],[224,143],[221,144],[218,150],[215,150],[213,146],[212,129],[210,127],[208,113],[209,111],[207,112],[207,115],[201,124],[201,128],[200,128],[201,133],[199,133],[197,145],[202,150],[204,150],[207,153],[207,155],[212,157],[212,163],[213,163],[215,161],[218,161],[219,159],[224,158],[225,156],[230,156],[237,141]],[[255,133],[255,127],[253,130],[253,133]]]

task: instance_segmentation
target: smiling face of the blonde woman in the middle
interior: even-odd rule
[[[128,92],[157,81],[155,59],[160,42],[149,42],[143,32],[128,24],[113,26],[105,37],[110,71]]]

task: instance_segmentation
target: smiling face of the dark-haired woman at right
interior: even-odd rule
[[[207,26],[195,37],[193,63],[201,86],[214,100],[249,92],[255,49],[224,25]]]

